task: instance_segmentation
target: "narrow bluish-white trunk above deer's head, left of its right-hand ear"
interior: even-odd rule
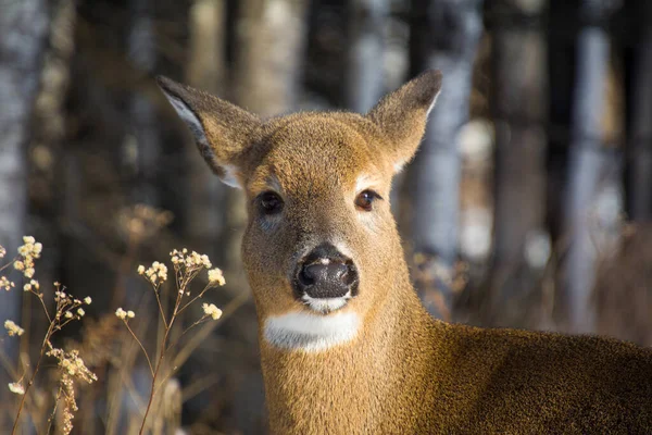
[[[384,90],[385,26],[387,0],[350,0],[347,107],[366,113],[378,102]]]

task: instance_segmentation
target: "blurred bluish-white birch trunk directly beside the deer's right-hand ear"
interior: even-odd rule
[[[449,319],[457,259],[461,159],[460,128],[468,120],[476,47],[482,30],[481,0],[413,0],[411,70],[443,73],[443,86],[409,172],[412,240],[426,256],[422,269],[434,279],[417,287],[428,311]]]

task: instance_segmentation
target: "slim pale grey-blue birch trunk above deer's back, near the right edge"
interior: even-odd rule
[[[594,331],[595,314],[591,291],[595,275],[595,220],[592,212],[603,175],[613,161],[602,139],[610,40],[602,27],[615,1],[584,0],[577,44],[575,102],[565,199],[565,235],[569,246],[564,264],[564,290],[569,328],[576,333]],[[593,232],[593,233],[592,233]]]

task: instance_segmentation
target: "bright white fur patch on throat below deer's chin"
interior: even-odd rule
[[[329,315],[291,312],[267,318],[263,335],[276,347],[318,352],[351,341],[359,326],[352,311]]]

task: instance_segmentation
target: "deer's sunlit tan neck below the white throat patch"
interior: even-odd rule
[[[414,423],[415,407],[431,406],[437,326],[406,273],[396,287],[361,322],[355,338],[341,346],[283,350],[261,336],[274,433],[401,432]]]

